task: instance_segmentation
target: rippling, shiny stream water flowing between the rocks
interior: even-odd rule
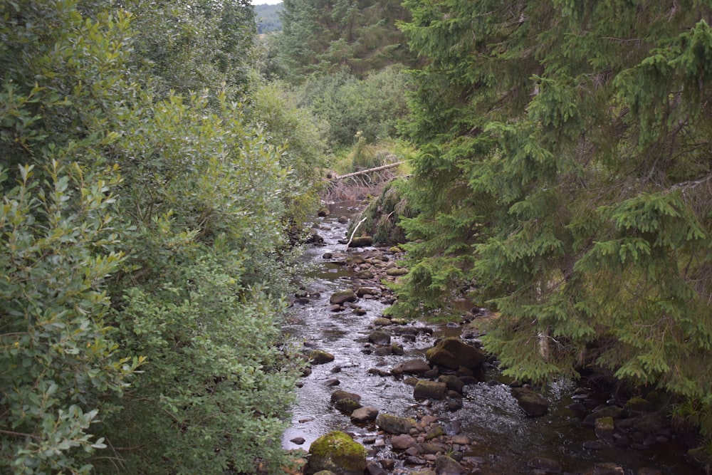
[[[355,203],[330,205],[330,214],[320,218],[316,231],[323,245],[308,246],[303,259],[314,263],[304,277],[308,299],[291,308],[286,331],[306,349],[324,350],[335,356],[333,362],[312,365],[311,373],[300,380],[298,403],[293,407],[290,427],[283,434],[285,449],[308,451],[315,439],[333,430],[342,430],[370,451],[370,459],[395,459],[388,473],[408,474],[432,466],[409,464],[406,457],[392,449],[389,439],[379,432],[374,422],[353,424],[350,417],[333,407],[330,396],[335,390],[357,393],[361,404],[379,409],[381,413],[403,417],[431,414],[439,418],[446,434],[466,434],[473,441],[464,453],[468,473],[532,474],[530,461],[536,457],[552,459],[563,473],[597,474],[597,464],[612,463],[627,475],[699,475],[703,470],[689,463],[686,449],[669,432],[646,439],[641,444],[617,447],[602,444],[593,427],[582,424],[587,410],[571,409],[572,404],[592,401],[604,403],[609,396],[583,393],[573,382],[557,382],[543,396],[549,404],[543,417],[527,417],[511,395],[511,388],[496,367],[489,365],[476,385],[467,385],[461,409],[453,410],[443,401],[419,401],[413,397],[413,386],[383,372],[407,360],[424,359],[425,350],[443,336],[460,336],[461,323],[434,325],[409,323],[416,328],[429,328],[401,335],[392,333],[392,343],[402,345],[402,355],[379,356],[370,350],[368,335],[375,329],[372,322],[382,316],[387,303],[379,298],[359,298],[355,306],[362,315],[345,311],[330,311],[330,296],[335,291],[352,288],[352,274],[338,256],[347,254],[344,239],[347,224],[339,218],[351,218]],[[341,219],[341,221],[345,221]],[[349,255],[362,249],[350,250]],[[324,256],[333,254],[333,259]],[[363,314],[365,313],[365,314]],[[389,331],[390,327],[383,330]],[[415,335],[417,334],[417,335]],[[415,336],[414,336],[415,335]],[[381,375],[373,374],[382,370]],[[371,371],[369,371],[371,370]],[[623,471],[620,471],[622,469]],[[552,472],[555,473],[555,472]]]

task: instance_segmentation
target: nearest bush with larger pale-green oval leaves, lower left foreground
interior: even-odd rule
[[[103,449],[90,427],[112,412],[140,358],[117,357],[105,278],[117,271],[110,189],[52,160],[19,169],[0,209],[0,466],[15,474],[89,473]],[[8,170],[0,167],[0,185]]]

